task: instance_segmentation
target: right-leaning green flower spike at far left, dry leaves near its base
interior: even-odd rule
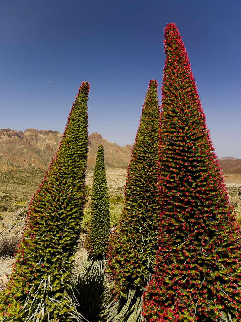
[[[83,82],[58,151],[29,205],[13,272],[1,293],[0,312],[7,320],[25,321],[35,312],[44,321],[68,321],[66,281],[85,201],[88,93],[89,83]]]

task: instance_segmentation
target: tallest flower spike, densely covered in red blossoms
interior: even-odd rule
[[[240,232],[210,141],[190,62],[165,27],[160,118],[160,227],[147,321],[241,319]]]

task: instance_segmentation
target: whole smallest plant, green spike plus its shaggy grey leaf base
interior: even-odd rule
[[[104,273],[110,234],[110,202],[107,190],[104,150],[99,145],[91,194],[91,216],[85,249],[87,260],[79,276],[71,280],[70,296],[83,320],[105,322],[112,309],[112,292]]]

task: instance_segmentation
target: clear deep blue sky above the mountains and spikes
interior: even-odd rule
[[[240,0],[1,0],[0,128],[62,133],[89,81],[89,133],[132,144],[175,22],[217,155],[241,158],[240,17]]]

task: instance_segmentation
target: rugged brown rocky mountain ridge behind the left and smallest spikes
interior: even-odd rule
[[[62,134],[58,131],[36,130],[28,128],[24,132],[0,129],[0,171],[8,172],[17,168],[39,168],[46,170],[56,153]],[[89,136],[88,168],[93,168],[98,145],[105,152],[106,167],[127,167],[132,146],[120,147],[116,143],[103,139],[101,134]]]

